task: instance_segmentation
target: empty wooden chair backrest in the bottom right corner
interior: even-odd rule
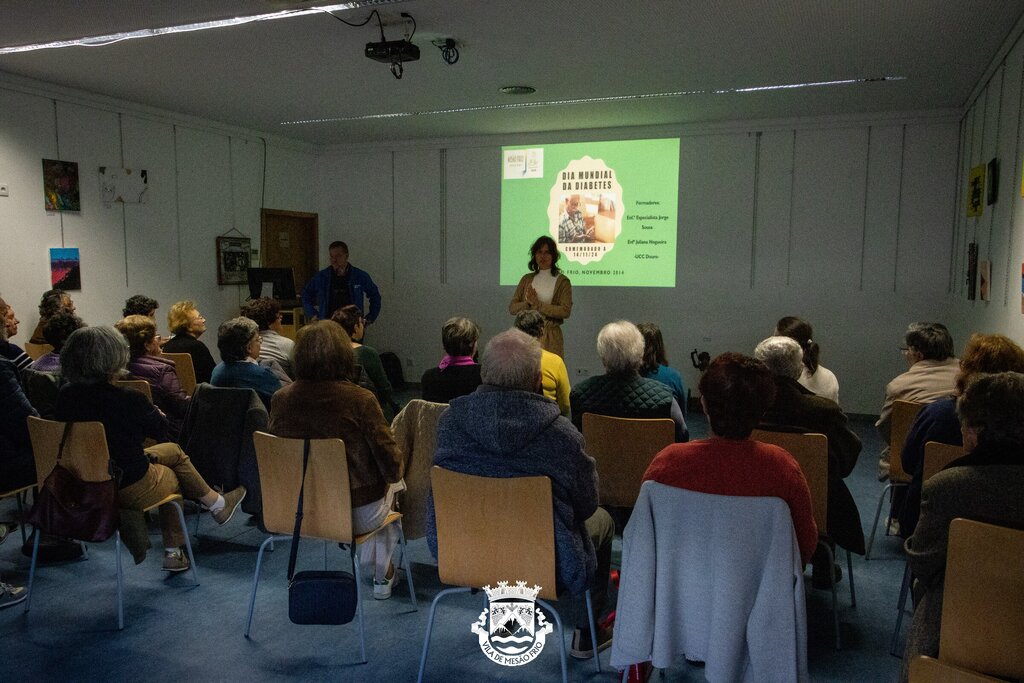
[[[939,660],[999,678],[1024,678],[1024,530],[949,524]]]

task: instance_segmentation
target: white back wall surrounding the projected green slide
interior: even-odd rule
[[[513,288],[497,284],[502,144],[677,135],[677,286],[575,288],[570,375],[601,372],[602,325],[649,319],[692,387],[690,349],[749,353],[798,314],[844,408],[877,413],[904,370],[907,323],[947,321],[963,338],[950,318],[957,116],[935,113],[327,150],[322,243],[347,241],[384,292],[369,343],[397,351],[416,380],[440,356],[447,316],[477,321],[484,339],[510,326]]]

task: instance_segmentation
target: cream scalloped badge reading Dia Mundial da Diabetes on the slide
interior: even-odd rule
[[[600,261],[623,231],[623,186],[602,159],[574,159],[555,178],[548,224],[558,251],[586,265]]]

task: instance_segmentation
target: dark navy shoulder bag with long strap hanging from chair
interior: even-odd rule
[[[355,614],[355,580],[347,571],[295,571],[302,530],[302,498],[309,465],[309,439],[302,446],[302,485],[288,558],[288,618],[293,624],[348,624]]]

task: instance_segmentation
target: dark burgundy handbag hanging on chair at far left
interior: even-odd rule
[[[105,541],[118,528],[118,484],[114,477],[106,481],[82,481],[60,465],[72,424],[65,425],[57,464],[43,480],[26,520],[44,533],[78,541]]]

